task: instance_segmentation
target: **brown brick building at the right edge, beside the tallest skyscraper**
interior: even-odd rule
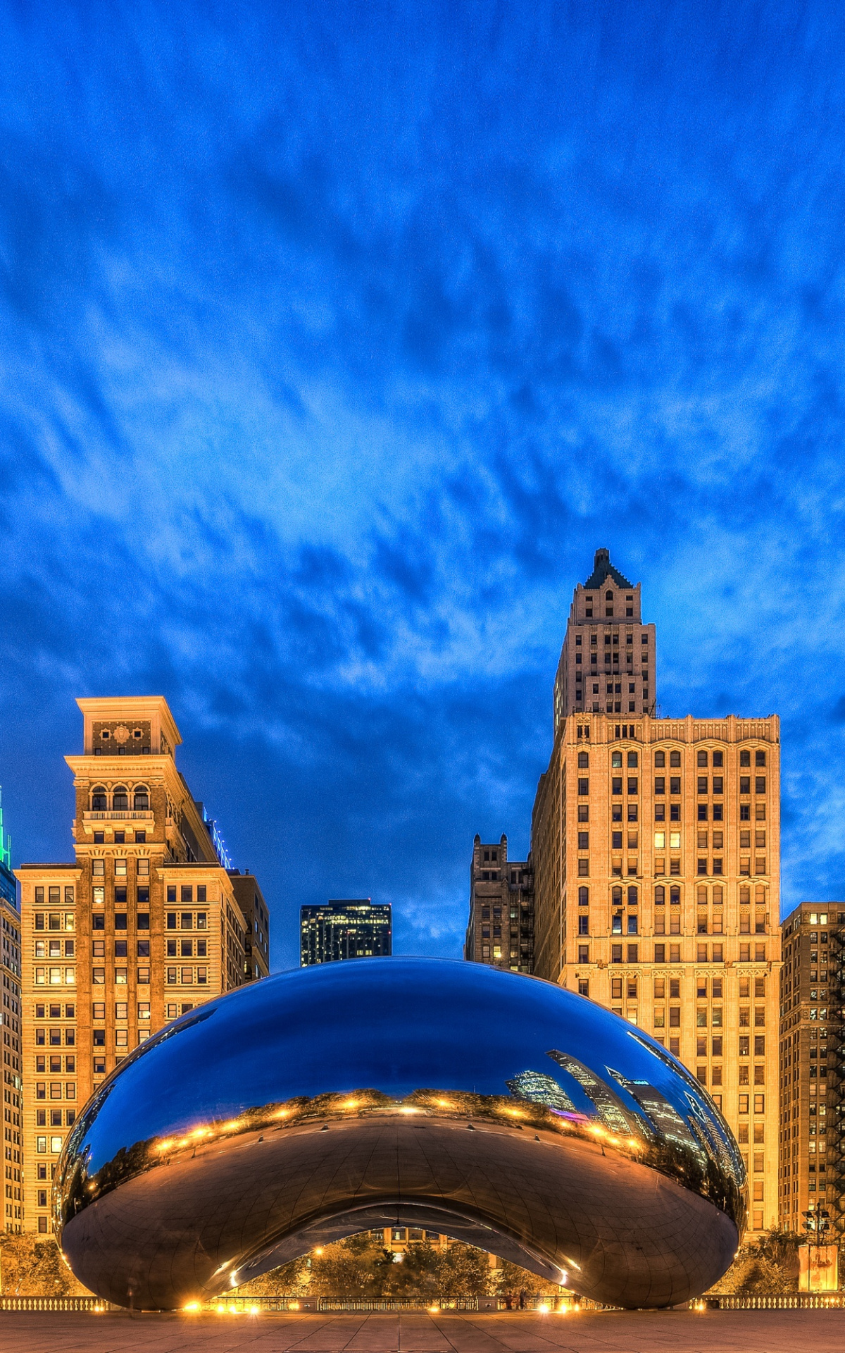
[[[837,967],[845,902],[800,902],[783,923],[780,971],[780,1224],[803,1230],[803,1214],[826,1208],[841,1227],[845,1197],[836,1134],[842,1088]]]

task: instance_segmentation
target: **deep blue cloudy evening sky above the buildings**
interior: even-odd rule
[[[277,967],[329,896],[457,954],[608,545],[845,896],[841,7],[7,0],[0,65],[16,862],[74,697],[162,693]]]

